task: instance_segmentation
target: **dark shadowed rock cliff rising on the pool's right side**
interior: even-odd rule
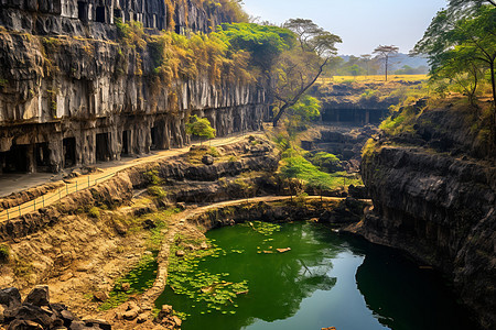
[[[359,231],[449,274],[482,326],[494,329],[495,157],[466,116],[427,111],[413,133],[378,139],[362,165],[374,212]]]

